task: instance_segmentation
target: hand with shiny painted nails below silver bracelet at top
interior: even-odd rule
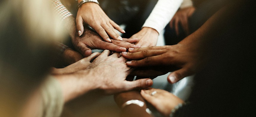
[[[122,41],[122,37],[117,33],[125,33],[114,21],[112,21],[101,9],[101,7],[92,2],[83,4],[77,12],[77,31],[81,36],[84,32],[83,22],[91,26],[106,42],[111,42],[107,34],[115,40]]]

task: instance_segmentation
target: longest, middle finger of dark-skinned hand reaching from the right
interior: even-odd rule
[[[143,50],[135,53],[122,52],[122,56],[124,56],[126,59],[139,60],[150,56],[157,56],[163,53],[165,53],[164,50]]]

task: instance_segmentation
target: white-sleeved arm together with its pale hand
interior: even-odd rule
[[[174,16],[181,2],[182,0],[159,0],[142,26],[142,30],[131,37],[131,39],[139,39],[135,44],[141,47],[155,46],[158,35]]]

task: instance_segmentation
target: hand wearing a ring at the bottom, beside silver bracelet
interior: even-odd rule
[[[156,91],[156,94],[151,95]],[[150,104],[152,104],[163,116],[168,117],[171,114],[171,110],[180,103],[184,103],[181,99],[168,91],[162,89],[143,89],[141,90],[141,96]]]

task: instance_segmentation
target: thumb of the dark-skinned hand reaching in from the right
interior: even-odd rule
[[[176,83],[182,78],[185,78],[188,76],[188,71],[185,69],[179,69],[177,71],[172,72],[170,75],[168,75],[167,80],[169,83]]]

